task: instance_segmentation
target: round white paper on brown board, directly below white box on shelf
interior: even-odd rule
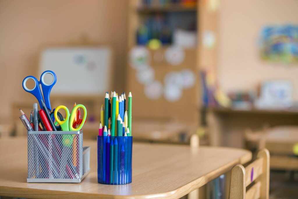
[[[168,47],[165,51],[166,61],[175,66],[181,64],[184,61],[184,57],[184,50],[181,47]]]

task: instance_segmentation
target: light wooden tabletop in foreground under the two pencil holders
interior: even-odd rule
[[[97,183],[96,142],[91,171],[78,184],[27,183],[27,139],[0,138],[0,195],[22,198],[180,198],[251,160],[251,152],[222,147],[134,143],[132,183]]]

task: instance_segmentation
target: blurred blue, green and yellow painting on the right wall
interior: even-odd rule
[[[260,35],[260,55],[278,63],[298,63],[298,25],[267,26]]]

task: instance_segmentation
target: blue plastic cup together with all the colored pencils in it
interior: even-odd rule
[[[125,92],[105,93],[105,104],[100,110],[98,129],[98,182],[126,184],[131,182],[131,110],[132,95]],[[117,136],[117,137],[116,137]]]

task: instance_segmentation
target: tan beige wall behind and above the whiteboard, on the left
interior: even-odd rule
[[[0,123],[9,117],[12,101],[34,100],[21,86],[37,74],[39,54],[47,45],[79,42],[82,35],[114,50],[116,90],[123,90],[126,38],[126,0],[0,0]]]

